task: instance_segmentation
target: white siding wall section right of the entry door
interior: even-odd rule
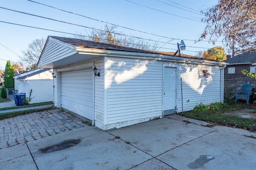
[[[200,65],[180,64],[180,78],[182,78],[182,92],[181,79],[179,78],[179,109],[183,111],[194,109],[198,104],[209,105],[215,102],[221,102],[221,70],[218,66],[208,66],[208,73],[210,76],[205,78],[199,72],[202,70]],[[189,101],[188,101],[189,100]]]

